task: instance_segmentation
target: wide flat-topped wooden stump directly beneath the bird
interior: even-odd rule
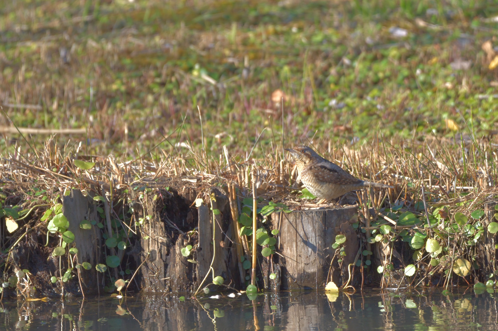
[[[336,235],[340,233],[347,238],[343,266],[354,262],[359,241],[349,221],[356,211],[355,206],[272,214],[273,229],[279,230],[279,239],[275,248],[283,256],[278,257],[281,267],[281,289],[325,287],[335,252],[331,245],[335,242]],[[344,269],[347,270],[347,267]],[[343,276],[347,279],[347,271]],[[338,278],[339,274],[335,273],[333,280],[336,284],[341,283]]]

